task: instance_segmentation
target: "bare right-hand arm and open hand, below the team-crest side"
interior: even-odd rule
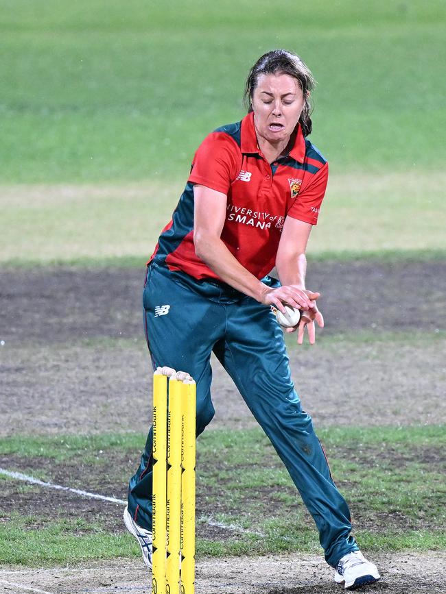
[[[312,291],[305,289],[305,273],[307,271],[305,250],[307,249],[311,230],[312,225],[310,223],[305,223],[304,221],[293,219],[292,216],[287,216],[283,224],[282,236],[276,256],[276,269],[281,284],[294,286],[296,289],[305,292],[312,299],[313,307],[303,312],[301,321],[298,323],[297,341],[299,344],[303,343],[305,327],[308,330],[309,342],[313,344],[316,336],[314,321],[320,327],[324,325],[322,314],[316,306],[316,299],[320,297],[320,293],[312,293]],[[294,332],[295,330],[296,328],[287,328],[286,332]]]

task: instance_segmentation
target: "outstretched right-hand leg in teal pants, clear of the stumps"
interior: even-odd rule
[[[287,467],[334,567],[358,548],[350,536],[350,512],[333,483],[312,419],[294,391],[274,315],[250,298],[228,306],[228,330],[216,354]]]

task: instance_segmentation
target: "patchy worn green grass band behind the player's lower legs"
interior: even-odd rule
[[[331,428],[318,433],[336,483],[351,506],[355,536],[364,549],[445,549],[443,425]],[[143,436],[138,434],[15,436],[1,439],[0,451],[32,458],[37,475],[39,460],[42,465],[51,460],[51,465],[45,465],[49,475],[57,474],[67,462],[73,469],[84,468],[84,473],[91,474],[89,469],[94,468],[93,473],[100,474],[110,457],[117,459],[130,451],[136,456],[141,443]],[[99,448],[107,451],[107,460],[97,456]],[[233,532],[223,532],[217,540],[200,537],[199,556],[320,552],[313,521],[259,428],[205,432],[198,440],[197,469],[199,527],[209,518],[233,527]],[[124,477],[126,472],[123,467],[115,474]],[[4,478],[0,482],[0,490],[6,488],[8,497],[22,486]],[[45,490],[34,486],[21,492],[29,496],[33,490],[39,497],[45,495]],[[93,524],[58,518],[42,522],[26,510],[23,515],[16,510],[6,521],[3,515],[0,562],[54,565],[139,555],[126,534],[110,534],[101,515]],[[27,554],[30,542],[32,559]]]

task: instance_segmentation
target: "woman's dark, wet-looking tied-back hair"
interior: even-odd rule
[[[312,132],[312,119],[310,114],[313,111],[308,101],[308,91],[313,90],[316,81],[308,66],[299,58],[296,53],[286,49],[273,49],[263,54],[250,69],[246,79],[244,100],[248,107],[248,113],[253,111],[253,93],[261,74],[287,74],[295,78],[303,92],[303,110],[299,123],[302,127],[303,136],[309,136]]]

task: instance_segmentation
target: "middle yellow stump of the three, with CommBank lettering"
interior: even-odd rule
[[[169,379],[167,420],[167,594],[179,591],[181,528],[181,391],[183,383]]]

